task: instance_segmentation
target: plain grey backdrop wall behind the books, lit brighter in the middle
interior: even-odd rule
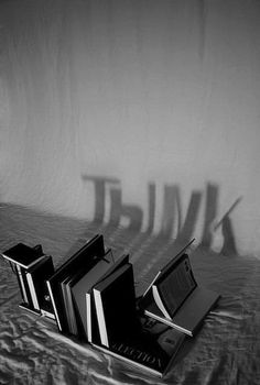
[[[259,15],[257,0],[1,1],[1,200],[105,221],[118,202],[123,226],[208,227],[213,248],[226,223],[258,253]]]

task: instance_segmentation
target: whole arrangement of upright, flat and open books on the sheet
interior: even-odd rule
[[[24,248],[28,246],[17,245],[2,255],[26,270],[22,274],[28,286],[34,287],[34,294],[30,290],[33,308],[44,316],[52,315],[61,332],[160,376],[172,365],[186,334],[195,333],[218,299],[218,295],[196,284],[185,250],[158,273],[137,301],[129,255],[115,261],[100,234],[56,272],[53,265],[47,271],[47,261],[52,264],[47,256],[34,256],[34,262],[24,257]],[[18,256],[20,251],[23,254]],[[42,279],[37,273],[36,286],[34,274],[41,268],[48,273]],[[24,284],[20,273],[18,278]],[[42,305],[46,292],[52,308],[48,310]],[[21,293],[24,299],[26,289]]]

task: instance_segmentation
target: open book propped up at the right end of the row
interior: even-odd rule
[[[199,328],[219,295],[199,286],[185,250],[158,273],[141,300],[144,314],[188,336]]]

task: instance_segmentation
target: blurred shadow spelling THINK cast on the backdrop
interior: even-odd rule
[[[95,189],[95,215],[91,223],[94,229],[99,228],[107,238],[113,238],[116,234],[119,234],[119,232],[123,232],[124,238],[129,238],[130,246],[134,248],[134,255],[137,255],[139,252],[140,245],[143,244],[143,240],[148,238],[154,241],[154,244],[150,244],[149,248],[160,248],[158,252],[162,251],[162,249],[165,251],[165,245],[172,244],[173,242],[175,245],[187,243],[193,238],[196,224],[198,222],[198,213],[202,209],[203,194],[206,194],[205,207],[203,207],[205,215],[199,244],[210,249],[216,231],[219,232],[221,229],[223,249],[220,252],[227,255],[237,254],[230,213],[239,204],[241,198],[238,198],[234,202],[234,205],[216,224],[216,218],[219,218],[219,188],[216,184],[208,183],[206,186],[206,193],[201,190],[192,191],[185,217],[183,215],[183,207],[181,204],[180,187],[177,185],[165,185],[161,229],[155,235],[154,220],[156,191],[154,183],[150,183],[148,185],[148,223],[144,231],[141,232],[143,227],[143,210],[138,205],[127,205],[122,202],[122,189],[119,179],[83,175],[83,180],[91,184]],[[107,195],[109,195],[109,197],[107,197]],[[108,223],[105,223],[106,198],[110,199]],[[123,228],[120,227],[120,221],[122,218],[127,219],[128,221],[128,226]],[[153,250],[153,255],[155,254],[154,252],[155,250]],[[133,255],[133,250],[131,250],[131,254]]]

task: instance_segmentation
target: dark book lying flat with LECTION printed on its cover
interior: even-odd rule
[[[109,348],[94,345],[130,365],[162,377],[174,364],[185,342],[185,334],[145,315],[140,318],[140,324],[141,329],[136,334],[131,333],[131,338],[127,338],[126,330],[124,336],[111,341]]]

